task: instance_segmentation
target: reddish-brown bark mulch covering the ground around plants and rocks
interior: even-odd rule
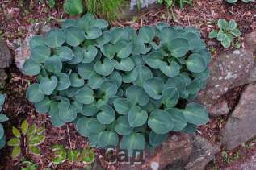
[[[27,34],[27,27],[31,23],[43,21],[50,23],[52,26],[57,25],[61,19],[67,19],[63,11],[63,1],[56,0],[56,6],[50,8],[45,1],[40,3],[39,0],[0,0],[0,35],[6,41],[11,52],[14,54],[15,47],[13,45],[15,39],[24,39]],[[242,35],[256,31],[256,2],[248,4],[241,1],[235,5],[230,5],[222,0],[196,0],[194,6],[187,6],[183,10],[178,8],[171,12],[166,12],[165,6],[159,6],[157,10],[150,10],[141,15],[133,17],[132,20],[115,21],[111,23],[113,26],[131,26],[138,29],[142,25],[153,25],[158,22],[166,22],[170,25],[181,25],[184,27],[195,26],[201,30],[202,37],[208,44],[208,48],[212,52],[212,56],[217,57],[220,52],[225,51],[221,45],[215,40],[208,39],[208,33],[216,27],[217,19],[235,19],[241,29]],[[242,41],[242,39],[241,39]],[[5,123],[7,140],[12,137],[11,126],[19,126],[20,123],[27,118],[31,124],[44,126],[46,128],[46,140],[40,145],[40,156],[29,155],[24,153],[28,160],[36,163],[39,169],[50,166],[52,160],[51,146],[54,144],[63,144],[65,148],[79,149],[88,147],[89,143],[78,132],[75,131],[73,124],[67,124],[61,128],[51,125],[46,114],[37,114],[34,106],[25,99],[27,86],[35,79],[26,77],[19,72],[15,64],[7,70],[9,73],[9,82],[1,92],[6,93],[7,101],[4,106],[6,115],[10,118]],[[226,94],[229,106],[234,108],[239,100],[243,87],[232,89]],[[212,143],[219,143],[218,134],[220,129],[225,125],[228,115],[218,118],[211,118],[206,126],[199,127],[199,135],[203,135]],[[226,168],[231,164],[240,164],[253,155],[256,151],[255,140],[245,143],[245,147],[237,147],[233,151],[225,151],[216,155],[216,159],[208,164],[207,169]],[[248,147],[250,146],[250,147]],[[230,161],[224,159],[224,151],[227,153]],[[10,147],[5,147],[0,152],[0,169],[20,169],[21,157],[12,160],[10,158]],[[233,155],[239,152],[240,156],[233,159]],[[102,155],[99,150],[95,151],[96,155]],[[65,161],[59,166],[52,166],[53,169],[71,169],[83,168],[86,164],[69,164]]]

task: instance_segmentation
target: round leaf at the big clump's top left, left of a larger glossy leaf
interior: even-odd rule
[[[48,31],[45,36],[45,44],[49,48],[58,48],[61,47],[65,42],[65,33],[61,29],[54,28],[51,31]]]

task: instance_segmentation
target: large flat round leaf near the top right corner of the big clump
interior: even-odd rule
[[[168,44],[168,50],[174,57],[183,57],[189,51],[190,46],[187,39],[176,38],[172,39]]]

